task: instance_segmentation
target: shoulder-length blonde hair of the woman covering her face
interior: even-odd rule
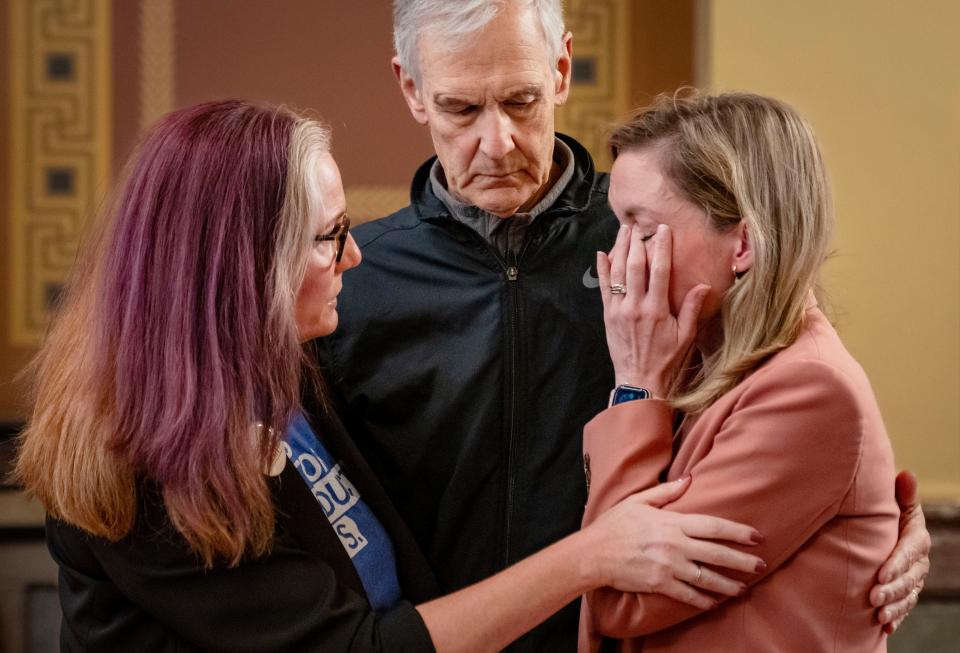
[[[678,409],[697,413],[796,339],[828,252],[829,186],[810,125],[760,95],[661,95],[610,138],[614,159],[651,147],[715,229],[745,223],[754,252],[723,297],[723,343],[671,394]]]

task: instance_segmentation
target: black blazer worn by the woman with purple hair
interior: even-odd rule
[[[120,542],[47,521],[60,565],[62,650],[433,651],[411,603],[436,594],[432,573],[340,421],[324,415],[311,426],[390,534],[407,601],[381,616],[372,612],[356,569],[292,464],[269,479],[277,511],[270,553],[234,568],[205,571],[171,526],[159,493],[143,484],[136,527]]]

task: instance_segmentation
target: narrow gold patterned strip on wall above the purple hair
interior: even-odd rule
[[[140,128],[173,109],[173,0],[140,0]]]

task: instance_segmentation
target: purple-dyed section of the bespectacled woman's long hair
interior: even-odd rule
[[[211,436],[231,430],[232,408],[282,425],[295,400],[271,390],[296,358],[261,364],[292,125],[236,102],[171,114],[121,200],[100,363],[114,375],[113,444],[164,487],[189,482],[187,461],[227,463]]]

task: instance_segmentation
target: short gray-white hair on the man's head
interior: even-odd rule
[[[562,0],[394,0],[393,46],[400,65],[417,88],[422,81],[417,53],[421,34],[436,32],[445,45],[455,48],[483,29],[507,2],[525,2],[533,7],[540,19],[550,66],[556,65],[563,52]]]

